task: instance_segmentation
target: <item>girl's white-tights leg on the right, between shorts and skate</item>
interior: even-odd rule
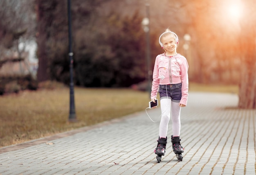
[[[180,136],[180,103],[171,102],[171,113],[172,113],[172,122],[173,122],[173,136]]]

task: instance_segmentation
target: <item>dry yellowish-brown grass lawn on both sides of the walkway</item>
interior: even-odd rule
[[[237,86],[191,83],[190,91],[238,93]],[[132,89],[75,88],[78,122],[69,123],[69,88],[41,88],[0,96],[0,147],[94,125],[144,110],[148,92]]]

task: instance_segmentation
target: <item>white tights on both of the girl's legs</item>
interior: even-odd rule
[[[159,137],[166,138],[170,114],[173,123],[173,136],[180,136],[180,109],[179,103],[171,99],[163,98],[160,100],[162,117],[159,125]]]

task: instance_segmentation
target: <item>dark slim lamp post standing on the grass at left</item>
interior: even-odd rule
[[[67,17],[68,17],[68,44],[69,44],[69,58],[70,58],[70,114],[69,122],[76,122],[76,111],[74,101],[74,83],[73,83],[73,52],[72,52],[72,28],[71,28],[71,2],[67,0]]]

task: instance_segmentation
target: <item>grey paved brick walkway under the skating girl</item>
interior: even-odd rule
[[[256,110],[239,110],[235,94],[189,94],[182,108],[183,161],[167,143],[153,153],[159,122],[146,112],[0,149],[0,175],[254,175]],[[148,109],[158,120],[160,107]],[[171,121],[168,136],[171,136]],[[46,144],[46,142],[48,144]]]

